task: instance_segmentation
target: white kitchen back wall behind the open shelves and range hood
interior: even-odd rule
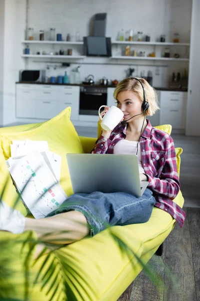
[[[150,35],[151,41],[155,41],[161,34],[166,35],[166,41],[172,40],[172,34],[178,32],[180,34],[181,42],[189,42],[189,30],[190,30],[190,12],[191,12],[191,0],[143,0],[138,2],[136,0],[102,0],[96,2],[95,0],[58,0],[56,6],[52,0],[41,2],[39,0],[29,1],[28,10],[28,27],[34,28],[35,39],[38,39],[39,30],[45,31],[45,37],[48,39],[49,28],[54,27],[57,33],[61,33],[64,39],[66,34],[70,33],[75,36],[75,32],[80,33],[80,37],[87,36],[89,34],[90,20],[96,13],[107,13],[106,21],[106,36],[115,40],[118,31],[123,28],[124,32],[133,29],[134,36],[136,38],[137,31],[142,31],[144,35]],[[40,47],[32,46],[31,50],[33,54],[36,51],[49,50],[50,46]],[[69,47],[62,47],[66,50]],[[56,48],[59,50],[60,46]],[[78,48],[78,50],[81,48]],[[123,46],[125,49],[125,46]],[[136,48],[132,47],[132,50]],[[144,46],[137,47],[138,50],[144,50],[146,53],[152,52],[153,47]],[[163,47],[156,47],[156,50],[163,51]],[[172,48],[174,52],[185,54],[185,48]],[[75,51],[75,49],[73,49]],[[116,52],[120,52],[120,46],[117,47]],[[35,60],[34,60],[35,61]],[[38,61],[38,60],[37,60]],[[83,62],[90,62],[93,60],[85,59]],[[168,75],[175,71],[183,71],[188,67],[188,63],[174,62],[167,63],[163,61],[124,61],[124,60],[103,60],[95,59],[95,62],[108,62],[108,63],[120,63],[126,64],[122,66],[110,66],[110,65],[81,65],[80,74],[81,79],[92,73],[95,81],[98,81],[102,76],[108,78],[121,80],[126,76],[126,70],[129,67],[135,68],[135,76],[140,76],[142,70],[147,74],[148,70],[153,73],[153,85],[154,86],[166,86],[168,85]],[[81,61],[79,61],[81,63]],[[139,65],[139,66],[137,66]],[[143,65],[143,66],[142,66]],[[156,69],[154,66],[161,66]],[[67,68],[68,73],[77,65],[71,65]],[[29,68],[45,68],[46,64],[35,63],[29,60]],[[167,69],[167,70],[166,70]],[[65,69],[58,68],[57,70],[50,69],[47,72],[47,76],[63,75]],[[162,75],[162,77],[160,76]]]

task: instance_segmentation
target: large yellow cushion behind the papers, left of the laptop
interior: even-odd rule
[[[13,129],[12,132],[6,132],[6,130],[4,132],[1,131],[1,152],[3,152],[3,155],[1,153],[0,166],[3,167],[3,174],[0,174],[0,178],[5,179],[6,174],[8,174],[5,161],[3,161],[3,156],[4,160],[7,160],[10,157],[10,144],[12,140],[46,140],[48,142],[49,150],[62,157],[60,184],[65,193],[68,196],[71,195],[73,192],[66,162],[66,154],[83,153],[83,148],[75,128],[69,119],[70,112],[71,108],[67,107],[52,119],[44,123],[34,124],[32,126],[33,128],[30,128],[29,130],[25,130],[28,127],[28,125],[26,125],[24,127],[21,126],[21,131],[19,132],[15,132],[14,127],[11,127]],[[10,191],[9,189],[6,190],[3,199],[9,205],[13,205],[17,195],[14,186],[11,183],[11,179],[9,179],[9,188]],[[2,183],[0,184],[0,189],[2,190]],[[21,204],[20,206],[23,205]],[[21,208],[19,210],[21,211]],[[24,214],[24,209],[22,210],[22,213]]]

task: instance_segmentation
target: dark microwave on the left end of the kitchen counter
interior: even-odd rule
[[[20,70],[20,82],[45,82],[46,70]]]

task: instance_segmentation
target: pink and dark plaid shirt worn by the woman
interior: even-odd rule
[[[146,121],[139,143],[142,166],[149,182],[147,187],[153,191],[155,206],[168,212],[182,227],[185,213],[172,201],[180,188],[173,140],[167,133],[152,127],[148,119]],[[91,153],[113,154],[114,145],[126,137],[126,127],[127,123],[118,124],[109,139],[100,136]]]

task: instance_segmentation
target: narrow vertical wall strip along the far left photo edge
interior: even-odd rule
[[[0,1],[0,125],[3,123],[4,0]]]

